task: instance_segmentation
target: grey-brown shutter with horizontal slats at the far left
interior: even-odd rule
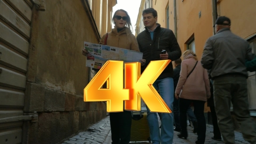
[[[0,0],[0,144],[22,141],[32,10],[29,0]],[[16,117],[16,118],[15,118]],[[7,119],[14,118],[12,122]]]

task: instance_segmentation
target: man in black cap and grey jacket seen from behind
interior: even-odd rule
[[[226,144],[235,144],[233,113],[241,124],[244,140],[256,144],[256,123],[250,117],[247,95],[246,59],[254,54],[249,43],[230,31],[231,21],[226,16],[217,18],[214,25],[216,34],[207,39],[201,64],[210,70],[213,79],[213,95],[218,125]]]

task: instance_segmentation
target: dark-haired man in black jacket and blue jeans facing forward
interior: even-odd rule
[[[145,30],[138,34],[137,41],[139,49],[143,52],[143,59],[146,63],[141,67],[141,73],[148,66],[150,61],[171,59],[172,61],[181,57],[181,49],[171,29],[161,28],[157,22],[157,11],[148,8],[142,12]],[[162,50],[166,53],[161,54]],[[159,89],[159,93],[168,107],[173,111],[174,83],[172,63],[164,69],[153,86]],[[150,137],[153,144],[172,144],[173,141],[173,113],[162,113],[161,116],[161,137],[158,126],[158,114],[151,112],[148,107],[148,124]]]

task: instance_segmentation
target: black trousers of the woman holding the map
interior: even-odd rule
[[[131,111],[111,112],[112,144],[128,144],[131,139]]]

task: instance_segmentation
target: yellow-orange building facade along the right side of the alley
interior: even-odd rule
[[[248,40],[256,53],[255,6],[256,0],[152,0],[152,7],[158,12],[158,23],[173,30],[182,52],[192,49],[199,60],[206,40],[214,34],[213,23],[217,16],[229,17],[231,31]],[[139,10],[141,17],[142,9]],[[136,26],[143,25],[141,17],[138,16]],[[135,35],[140,32],[136,31]],[[255,72],[249,73],[248,95],[251,115],[256,116]],[[207,111],[210,109],[205,107]]]

